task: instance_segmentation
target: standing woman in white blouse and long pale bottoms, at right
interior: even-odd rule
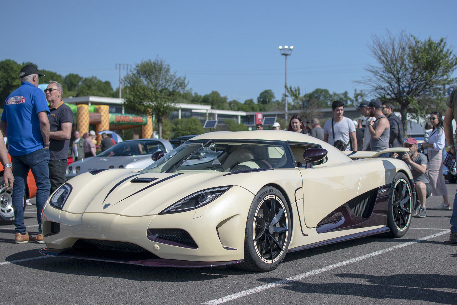
[[[443,177],[443,148],[446,137],[443,129],[443,119],[441,112],[435,111],[430,114],[430,123],[433,130],[428,138],[428,143],[422,144],[422,147],[428,149],[427,169],[429,171],[430,185],[432,187],[432,196],[443,196],[443,203],[435,207],[437,210],[450,209],[447,201],[447,188]]]

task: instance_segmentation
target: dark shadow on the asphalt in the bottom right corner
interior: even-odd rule
[[[377,276],[371,274],[335,274],[340,278],[366,279],[367,284],[360,283],[303,283],[293,281],[282,286],[282,289],[307,294],[350,295],[372,300],[420,300],[457,304],[457,293],[434,290],[455,289],[457,276],[441,274],[392,274]],[[273,283],[280,278],[259,278],[260,282]]]

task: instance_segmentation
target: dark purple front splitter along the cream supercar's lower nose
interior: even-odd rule
[[[80,251],[75,251],[73,248],[66,249],[48,249],[44,248],[40,250],[40,253],[50,257],[69,257],[69,258],[79,258],[87,259],[91,261],[100,261],[100,262],[120,262],[123,264],[132,264],[132,265],[141,265],[141,266],[150,266],[150,267],[176,267],[176,268],[207,268],[207,267],[218,267],[218,266],[227,266],[233,265],[244,260],[237,261],[226,261],[226,262],[195,262],[195,261],[181,261],[176,259],[164,259],[164,258],[146,258],[138,257],[138,255],[103,255],[105,253],[100,253],[104,251],[96,251],[97,253],[81,253]],[[102,255],[97,255],[102,254]],[[157,257],[153,253],[150,256]],[[142,259],[143,258],[143,259]]]

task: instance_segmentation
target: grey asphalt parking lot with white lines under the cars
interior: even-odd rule
[[[453,202],[457,184],[447,184]],[[399,239],[366,237],[289,253],[269,273],[234,268],[152,268],[44,257],[0,226],[0,304],[457,304],[451,211],[427,200]],[[26,225],[37,234],[35,205]]]

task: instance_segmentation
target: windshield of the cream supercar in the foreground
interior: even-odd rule
[[[293,168],[286,144],[282,142],[250,140],[207,142],[208,140],[186,142],[142,172],[230,172],[252,168]],[[198,151],[193,153],[196,150]]]

